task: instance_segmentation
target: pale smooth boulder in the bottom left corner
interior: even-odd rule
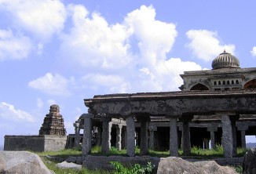
[[[0,151],[0,173],[51,174],[37,154],[27,151]]]

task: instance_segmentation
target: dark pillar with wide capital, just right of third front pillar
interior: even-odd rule
[[[192,117],[185,116],[184,118],[181,118],[182,124],[182,150],[183,155],[190,155],[191,154],[191,143],[190,143],[190,130],[188,121],[191,121]]]

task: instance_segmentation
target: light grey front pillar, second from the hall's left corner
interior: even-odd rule
[[[126,132],[127,132],[127,141],[126,149],[127,155],[129,157],[135,156],[135,124],[133,116],[130,115],[126,118]]]

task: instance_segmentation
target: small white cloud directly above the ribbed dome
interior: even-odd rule
[[[188,43],[188,48],[192,53],[201,60],[213,60],[216,55],[219,55],[225,49],[228,53],[234,54],[235,45],[223,45],[218,39],[217,32],[207,30],[190,30],[187,37],[191,40]]]

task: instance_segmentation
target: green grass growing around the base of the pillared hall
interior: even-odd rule
[[[237,148],[237,156],[243,156],[247,152],[246,148]],[[34,152],[42,158],[42,161],[45,163],[46,167],[53,172],[57,174],[65,174],[65,173],[91,173],[91,174],[97,174],[97,173],[103,173],[103,174],[112,174],[114,172],[104,171],[104,170],[89,170],[86,168],[82,168],[81,170],[74,170],[74,169],[58,169],[55,167],[55,165],[58,163],[58,161],[51,160],[49,158],[46,158],[46,156],[54,156],[57,158],[68,158],[69,156],[78,157],[82,156],[81,150],[72,150],[72,149],[66,149],[66,150],[60,150],[60,151],[46,151],[46,152]],[[182,157],[182,150],[178,150],[179,156]],[[91,150],[92,155],[104,155],[104,156],[110,156],[110,155],[121,155],[126,156],[126,150],[117,150],[115,147],[112,147],[108,154],[101,153],[101,147],[93,147]],[[140,149],[138,147],[135,148],[135,155],[140,155]],[[156,150],[149,150],[150,156],[154,157],[169,157],[170,152],[169,150],[166,151],[156,151]],[[198,157],[198,158],[214,158],[214,157],[223,157],[223,147],[217,146],[213,150],[204,150],[200,149],[198,147],[192,147],[191,150],[191,156]],[[241,166],[235,167],[237,172],[241,171]]]

